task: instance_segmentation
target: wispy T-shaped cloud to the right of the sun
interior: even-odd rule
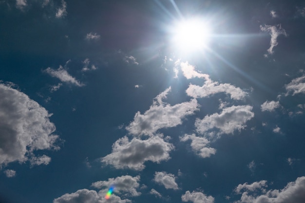
[[[277,37],[281,34],[284,36],[287,36],[286,31],[282,29],[281,25],[265,25],[265,26],[260,26],[261,31],[263,32],[268,32],[271,35],[271,40],[270,40],[270,48],[267,50],[269,54],[273,53],[273,48],[278,45],[277,42]]]

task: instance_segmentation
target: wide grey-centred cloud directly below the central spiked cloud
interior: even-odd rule
[[[101,161],[113,165],[116,169],[142,170],[146,161],[160,163],[170,159],[169,152],[173,149],[171,143],[165,142],[159,136],[152,136],[146,140],[133,138],[131,141],[124,136],[115,141],[112,153],[103,157]]]

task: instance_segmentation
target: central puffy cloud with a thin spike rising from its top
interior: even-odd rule
[[[126,129],[133,135],[152,135],[161,128],[174,127],[182,124],[182,118],[191,115],[198,110],[197,100],[178,103],[171,106],[162,100],[167,97],[171,87],[160,93],[144,114],[137,112],[133,122]]]

